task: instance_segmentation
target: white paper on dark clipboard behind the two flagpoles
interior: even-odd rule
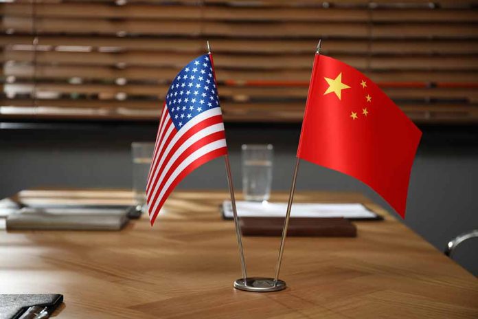
[[[285,217],[287,203],[236,201],[238,217]],[[223,202],[226,218],[233,218],[231,201]],[[343,217],[350,219],[376,218],[374,212],[361,203],[293,203],[291,217]]]

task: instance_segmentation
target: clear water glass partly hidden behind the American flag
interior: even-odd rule
[[[143,211],[148,210],[148,206],[146,205],[146,180],[148,179],[154,148],[155,143],[131,143],[131,154],[133,157],[133,195],[135,205]]]

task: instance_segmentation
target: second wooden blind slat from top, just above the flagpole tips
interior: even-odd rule
[[[32,19],[4,17],[3,30],[31,32]],[[430,36],[463,39],[477,37],[478,25],[470,23],[404,23],[378,24],[370,28],[367,23],[226,23],[208,21],[123,21],[105,19],[37,18],[36,30],[40,34],[125,34],[170,36],[246,36],[251,38],[310,38],[344,36],[349,38],[429,38]]]

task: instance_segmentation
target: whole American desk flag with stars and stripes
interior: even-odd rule
[[[179,72],[166,96],[146,185],[151,225],[187,174],[226,154],[214,64],[204,54]]]

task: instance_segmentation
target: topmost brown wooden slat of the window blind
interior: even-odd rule
[[[12,3],[3,8],[10,17],[31,16],[30,3]],[[343,8],[267,8],[207,7],[186,5],[110,5],[109,3],[58,3],[36,5],[38,17],[105,18],[208,21],[339,21],[339,22],[476,22],[474,10],[423,9],[343,9]]]

